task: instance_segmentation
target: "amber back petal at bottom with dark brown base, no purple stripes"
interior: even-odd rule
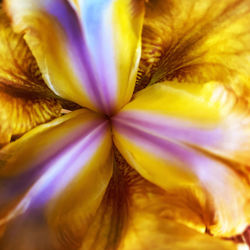
[[[237,249],[232,242],[200,234],[175,221],[186,217],[202,224],[204,213],[196,206],[195,196],[186,199],[181,190],[166,193],[143,179],[117,153],[115,159],[114,175],[81,250]]]

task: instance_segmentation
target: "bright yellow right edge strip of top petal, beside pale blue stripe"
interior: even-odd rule
[[[141,31],[144,17],[143,1],[114,1],[112,23],[118,107],[129,102],[135,87],[141,57]]]

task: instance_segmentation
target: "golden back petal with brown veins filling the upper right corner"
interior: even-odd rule
[[[249,19],[249,0],[149,1],[138,87],[216,80],[250,96]]]

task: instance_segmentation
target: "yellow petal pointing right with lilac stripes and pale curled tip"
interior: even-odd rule
[[[215,210],[209,229],[231,236],[250,220],[250,187],[233,168],[249,166],[248,114],[244,100],[218,83],[158,83],[112,118],[114,142],[131,166],[166,190],[201,185]]]

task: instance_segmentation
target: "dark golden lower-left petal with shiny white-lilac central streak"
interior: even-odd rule
[[[0,156],[0,224],[7,224],[1,249],[76,249],[112,174],[107,121],[73,111]]]

